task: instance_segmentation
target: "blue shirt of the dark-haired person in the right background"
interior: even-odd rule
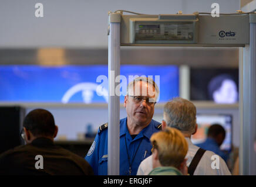
[[[213,151],[213,153],[219,155],[225,162],[227,162],[228,155],[221,151],[217,142],[213,138],[206,138],[201,144],[197,144],[196,146],[203,148],[204,150]]]

